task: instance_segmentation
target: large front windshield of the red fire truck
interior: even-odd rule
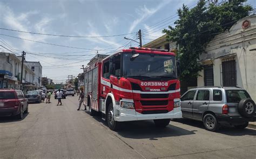
[[[176,64],[173,55],[139,53],[123,54],[123,76],[143,78],[176,79]]]

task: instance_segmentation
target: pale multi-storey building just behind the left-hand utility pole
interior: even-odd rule
[[[25,61],[25,63],[30,67],[30,69],[35,73],[33,78],[33,83],[35,83],[35,88],[42,88],[42,65],[41,63],[34,61]]]

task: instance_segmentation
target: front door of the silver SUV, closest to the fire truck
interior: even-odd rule
[[[183,117],[193,117],[192,104],[197,90],[190,90],[181,97],[181,111]]]

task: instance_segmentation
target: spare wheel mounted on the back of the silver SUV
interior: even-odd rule
[[[252,99],[241,99],[238,104],[238,111],[245,118],[251,118],[255,112],[255,103]]]

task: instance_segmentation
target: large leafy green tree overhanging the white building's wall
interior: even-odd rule
[[[188,82],[193,77],[198,77],[198,72],[203,69],[197,59],[204,52],[204,48],[216,34],[222,33],[239,19],[249,15],[252,6],[242,5],[246,0],[230,0],[215,5],[200,0],[192,9],[183,5],[178,9],[179,19],[175,27],[163,30],[167,34],[167,41],[176,41],[177,52],[181,67],[181,80]]]

